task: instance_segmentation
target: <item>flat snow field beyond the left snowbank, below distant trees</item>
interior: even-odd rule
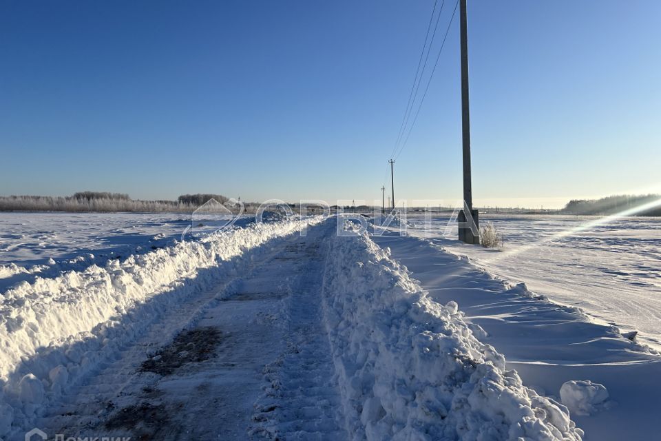
[[[93,263],[146,254],[174,244],[187,231],[209,233],[181,213],[0,212],[0,292],[21,281],[83,271]],[[251,220],[240,218],[236,225]],[[191,229],[192,227],[192,229]]]

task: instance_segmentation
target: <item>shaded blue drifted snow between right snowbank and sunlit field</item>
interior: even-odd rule
[[[595,320],[578,307],[553,302],[551,294],[539,294],[527,283],[516,283],[521,279],[496,276],[475,265],[472,258],[457,255],[456,250],[465,249],[465,254],[499,252],[463,247],[456,240],[402,237],[392,232],[373,240],[390,249],[392,258],[408,268],[434,300],[443,304],[456,301],[468,325],[483,331],[475,335],[503,353],[506,369],[515,369],[526,386],[557,401],[568,381],[589,380],[606,387],[609,404],[590,415],[570,412],[571,419],[585,431],[585,439],[653,438],[661,412],[661,358],[642,340],[632,341],[619,327]],[[554,258],[550,253],[547,257]],[[537,274],[536,264],[530,262],[520,271],[522,277],[528,269],[533,276]],[[550,271],[554,271],[552,265]],[[555,276],[559,286],[562,275]],[[565,282],[569,291],[576,289],[572,281],[569,276]],[[617,404],[611,407],[613,403]]]

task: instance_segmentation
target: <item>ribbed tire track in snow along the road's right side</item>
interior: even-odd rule
[[[331,225],[333,226],[333,225]],[[310,233],[291,254],[303,254],[297,269],[300,279],[288,298],[287,350],[266,367],[269,386],[255,403],[251,431],[255,438],[271,440],[347,440],[344,416],[328,334],[322,312],[322,282],[326,265],[328,225]]]

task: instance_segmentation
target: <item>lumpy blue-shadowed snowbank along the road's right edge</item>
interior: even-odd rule
[[[580,440],[562,404],[524,387],[367,236],[335,237],[324,314],[346,430],[361,440]]]

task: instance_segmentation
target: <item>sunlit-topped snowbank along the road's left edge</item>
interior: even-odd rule
[[[229,278],[231,259],[323,219],[235,228],[6,291],[0,296],[0,438],[12,425],[27,427],[45,400],[56,399],[155,318]]]

